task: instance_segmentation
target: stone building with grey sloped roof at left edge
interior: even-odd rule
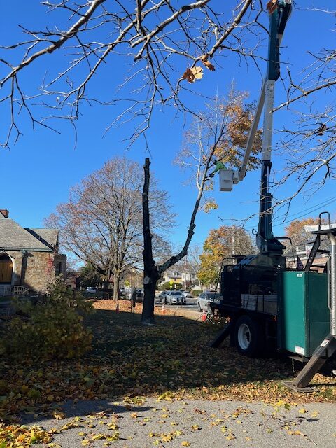
[[[43,291],[65,274],[66,255],[58,253],[58,230],[22,228],[0,209],[0,295],[15,286]]]

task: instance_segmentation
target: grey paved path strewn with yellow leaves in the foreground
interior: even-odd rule
[[[332,404],[286,410],[283,405],[262,403],[151,398],[141,405],[102,400],[67,402],[62,412],[66,416],[62,420],[26,416],[25,423],[34,419],[48,430],[65,427],[54,435],[52,445],[62,448],[336,446],[336,406]]]

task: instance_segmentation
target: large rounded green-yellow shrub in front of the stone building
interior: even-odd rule
[[[83,316],[91,309],[83,296],[66,288],[62,279],[50,285],[36,302],[17,300],[2,340],[1,351],[24,360],[74,358],[90,349],[92,335]]]

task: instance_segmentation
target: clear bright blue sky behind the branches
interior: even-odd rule
[[[297,1],[297,10],[294,10],[292,18],[288,22],[285,37],[283,38],[283,74],[286,74],[286,66],[290,66],[291,72],[298,76],[300,70],[307,65],[309,57],[307,50],[316,51],[321,48],[322,42],[330,44],[330,31],[335,28],[335,17],[318,11],[306,10],[313,6],[314,2]],[[332,9],[334,2],[331,0],[315,1],[318,7]],[[302,8],[302,9],[300,9]],[[55,16],[56,17],[56,16]],[[20,30],[18,24],[29,28],[42,28],[47,25],[55,25],[55,17],[52,14],[45,15],[45,8],[35,0],[15,0],[3,2],[0,18],[0,40],[2,43],[13,43],[18,40]],[[263,20],[265,21],[266,18]],[[335,40],[334,40],[335,44]],[[266,43],[260,47],[260,54],[266,55]],[[326,45],[328,47],[328,45]],[[329,45],[330,46],[330,45]],[[334,45],[335,46],[335,45]],[[1,56],[0,56],[1,57]],[[121,57],[120,57],[121,58]],[[92,94],[114,94],[118,85],[123,81],[127,73],[127,66],[120,64],[116,56],[106,64],[104,71],[97,75],[97,80],[92,85]],[[227,58],[218,59],[219,65],[216,72],[206,72],[202,81],[195,86],[196,92],[214,95],[216,92],[225,95],[232,80],[235,80],[237,89],[251,92],[251,100],[258,99],[261,79],[260,74],[253,64],[247,67],[244,62],[238,66],[237,58],[228,55]],[[55,55],[36,64],[25,73],[25,85],[32,83],[38,85],[45,71],[44,64],[54,68],[62,64],[62,55]],[[261,64],[262,72],[265,64]],[[3,69],[3,67],[2,67]],[[286,99],[283,86],[279,80],[277,83],[276,103]],[[320,100],[317,100],[320,101]],[[323,100],[321,100],[323,101]],[[191,106],[202,109],[204,100],[197,94],[190,97]],[[83,116],[78,120],[78,140],[74,148],[75,136],[71,125],[59,123],[58,128],[62,134],[55,134],[41,127],[35,132],[27,116],[22,116],[20,126],[24,136],[20,138],[10,151],[1,149],[1,208],[10,210],[10,217],[27,227],[43,227],[43,219],[55,210],[59,202],[65,202],[69,188],[78,183],[87,174],[102,167],[106,160],[115,155],[126,155],[132,160],[137,160],[141,165],[144,158],[148,157],[144,141],[137,141],[132,148],[127,150],[125,138],[132,130],[132,122],[126,125],[113,127],[105,137],[104,129],[122,111],[125,104],[119,103],[109,108],[104,106],[85,107]],[[1,122],[8,123],[8,109],[1,107]],[[274,127],[281,127],[291,118],[288,111],[279,111],[274,115]],[[160,182],[161,188],[169,191],[174,210],[178,213],[176,228],[172,231],[173,244],[181,244],[186,237],[186,230],[193,208],[193,202],[197,194],[196,190],[186,186],[186,174],[174,165],[174,158],[181,148],[183,141],[182,117],[174,118],[174,111],[169,109],[157,111],[148,132],[148,142],[151,148],[151,169]],[[187,125],[188,127],[188,125]],[[4,128],[3,128],[4,129]],[[1,132],[3,140],[3,132]],[[276,135],[274,136],[274,144]],[[281,169],[281,160],[273,160],[274,169]],[[211,228],[218,228],[221,224],[237,223],[248,216],[258,212],[258,172],[249,173],[232,193],[216,192],[214,196],[218,201],[219,209],[211,214],[199,214],[193,245],[202,245]],[[218,188],[218,183],[217,183]],[[283,195],[295,188],[290,183],[281,190]],[[300,197],[295,200],[290,209],[289,216],[302,217],[311,211],[311,215],[317,214],[318,205],[325,204],[327,209],[335,211],[332,201],[333,186],[330,184],[320,190],[314,197]],[[335,190],[335,189],[334,189]],[[235,221],[238,220],[238,221]],[[281,219],[275,217],[274,233],[283,233]],[[287,218],[288,221],[288,218]],[[256,227],[256,219],[248,221],[246,228]]]

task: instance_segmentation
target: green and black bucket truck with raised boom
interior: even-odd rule
[[[260,211],[256,245],[258,254],[237,259],[237,264],[225,266],[221,273],[221,302],[210,303],[214,314],[230,321],[212,346],[216,347],[230,335],[230,344],[246,356],[267,356],[282,351],[307,362],[293,384],[304,390],[316,372],[324,369],[332,374],[336,352],[336,224],[321,219],[306,230],[315,235],[315,243],[302,270],[286,268],[285,246],[272,232],[272,194],[269,175],[272,162],[272,132],[274,88],[280,76],[280,44],[291,13],[291,1],[277,1],[269,13],[268,64],[265,81],[246,144],[244,158],[238,170],[216,167],[221,191],[231,191],[246,176],[246,167],[258,129],[262,111],[262,160],[260,181]],[[323,212],[325,213],[325,212]],[[325,272],[316,272],[314,258],[321,235],[330,242],[330,254]],[[323,251],[325,252],[325,251]],[[315,272],[314,272],[315,269]]]

